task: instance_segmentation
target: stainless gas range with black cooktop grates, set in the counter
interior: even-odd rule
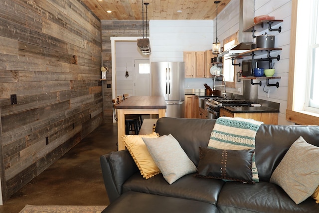
[[[214,119],[219,117],[219,110],[222,106],[251,106],[253,102],[237,98],[212,98],[207,99],[205,106],[208,112],[208,118]]]

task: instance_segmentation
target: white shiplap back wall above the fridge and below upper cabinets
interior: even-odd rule
[[[183,51],[211,49],[212,20],[150,20],[150,61],[183,61]],[[185,88],[205,89],[211,78],[185,78]]]

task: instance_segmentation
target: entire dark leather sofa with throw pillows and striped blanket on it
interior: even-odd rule
[[[199,147],[207,147],[214,124],[215,120],[164,117],[158,120],[156,132],[172,134],[197,166]],[[281,187],[269,182],[300,136],[319,146],[319,126],[260,126],[255,148],[260,182],[253,185],[198,178],[194,174],[169,185],[161,174],[145,180],[128,150],[103,155],[102,174],[111,203],[105,213],[319,213],[314,199],[296,205]]]

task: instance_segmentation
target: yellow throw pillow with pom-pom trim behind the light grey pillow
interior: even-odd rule
[[[123,141],[141,171],[143,178],[149,179],[159,174],[160,169],[156,166],[142,137],[158,138],[159,136],[155,132],[149,135],[125,135],[123,136]]]

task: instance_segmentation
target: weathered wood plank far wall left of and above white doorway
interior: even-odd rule
[[[109,68],[106,81],[103,82],[104,122],[113,122],[112,116],[112,52],[111,37],[137,37],[143,35],[142,20],[101,20],[102,60]],[[144,23],[146,24],[146,23]],[[148,24],[149,26],[149,24]],[[146,30],[146,29],[145,29]],[[149,29],[148,29],[149,30]],[[107,85],[110,87],[108,88]]]

